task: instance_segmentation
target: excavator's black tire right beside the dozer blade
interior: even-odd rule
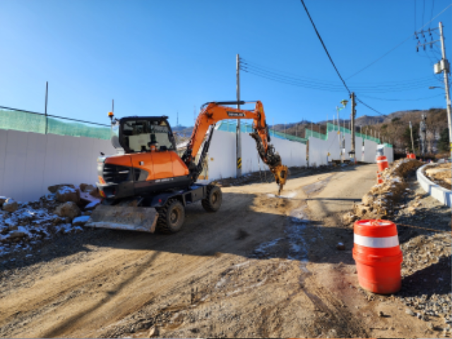
[[[171,199],[157,211],[157,230],[159,232],[172,234],[181,230],[185,220],[185,208],[179,200]]]

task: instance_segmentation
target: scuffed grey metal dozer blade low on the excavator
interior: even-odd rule
[[[85,226],[153,233],[157,218],[155,208],[100,205]]]

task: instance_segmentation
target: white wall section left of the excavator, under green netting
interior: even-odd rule
[[[100,152],[108,140],[0,129],[0,196],[32,201],[54,184],[95,184]]]

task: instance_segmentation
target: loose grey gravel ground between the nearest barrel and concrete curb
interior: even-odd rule
[[[402,289],[395,297],[407,314],[446,337],[452,323],[451,209],[426,194],[414,176],[393,217],[403,251]]]

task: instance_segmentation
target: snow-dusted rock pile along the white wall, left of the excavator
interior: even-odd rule
[[[28,203],[0,197],[0,256],[30,249],[55,234],[81,232],[100,203],[92,185],[59,184],[48,189],[50,194]]]

